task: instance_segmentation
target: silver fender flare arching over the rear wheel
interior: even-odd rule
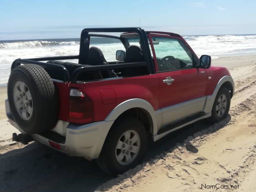
[[[131,109],[131,108],[141,108],[141,109],[146,110],[149,113],[149,115],[151,116],[153,130],[155,130],[157,128],[156,111],[154,110],[154,108],[152,107],[152,105],[149,102],[147,102],[144,99],[139,99],[139,98],[129,99],[129,100],[126,100],[126,101],[120,103],[119,105],[117,105],[109,113],[109,115],[106,117],[105,121],[116,120],[119,117],[119,115],[121,115],[122,113],[124,113],[125,111],[127,111],[128,109]]]

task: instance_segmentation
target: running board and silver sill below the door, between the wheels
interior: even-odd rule
[[[193,122],[199,121],[201,119],[205,119],[208,117],[211,117],[212,113],[205,114],[204,112],[196,113],[194,115],[191,115],[189,117],[182,118],[180,120],[171,122],[167,125],[163,125],[157,132],[157,135],[153,136],[153,140],[157,141],[158,139],[161,139],[162,137],[166,136],[167,134],[180,129],[182,127],[185,127],[189,124],[192,124]]]

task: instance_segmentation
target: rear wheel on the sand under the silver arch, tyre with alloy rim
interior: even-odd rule
[[[124,133],[129,133],[129,131],[131,140],[136,140],[135,133],[137,133],[139,141],[137,140],[135,143],[130,144],[130,140],[128,141],[128,143],[126,143],[126,139],[124,139],[125,137],[121,138]],[[123,139],[124,142],[122,143],[121,140]],[[120,162],[121,158],[119,158],[119,160],[117,159],[122,155],[128,156],[129,154],[127,151],[129,150],[136,150],[136,147],[138,147],[138,142],[140,142],[138,152],[136,154],[133,152],[129,152],[129,154],[131,154],[131,162],[128,162],[125,157],[123,159],[123,162]],[[117,145],[118,143],[122,145],[121,149],[116,149],[117,146],[120,146]],[[126,147],[123,148],[125,145]],[[111,127],[102,151],[100,153],[100,156],[96,161],[100,169],[102,169],[104,172],[114,175],[120,174],[131,168],[134,168],[138,163],[140,163],[144,153],[147,150],[147,146],[147,132],[142,122],[133,117],[122,118],[117,120]],[[134,149],[132,149],[131,147],[133,147]],[[124,152],[124,150],[127,153]],[[120,156],[118,156],[118,154]]]

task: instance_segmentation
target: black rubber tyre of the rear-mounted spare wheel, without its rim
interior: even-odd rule
[[[23,81],[33,100],[33,113],[29,120],[22,119],[13,101],[13,86]],[[58,117],[58,100],[50,75],[39,65],[26,64],[15,67],[8,81],[8,99],[13,117],[27,134],[36,134],[54,128]]]

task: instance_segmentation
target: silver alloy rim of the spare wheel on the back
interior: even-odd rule
[[[33,114],[33,100],[28,86],[23,81],[14,84],[13,101],[19,116],[23,120],[29,120]]]

